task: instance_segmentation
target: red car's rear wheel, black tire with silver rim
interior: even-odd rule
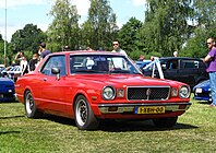
[[[25,114],[27,118],[38,118],[41,116],[29,91],[25,93]]]

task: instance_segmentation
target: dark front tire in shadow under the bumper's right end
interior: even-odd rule
[[[177,123],[178,117],[155,118],[153,122],[158,128],[171,128]]]

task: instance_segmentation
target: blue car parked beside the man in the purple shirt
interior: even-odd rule
[[[203,81],[193,87],[194,99],[212,102],[209,80]]]

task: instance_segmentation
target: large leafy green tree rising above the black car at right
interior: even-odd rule
[[[137,34],[137,48],[146,54],[157,51],[171,56],[189,37],[190,0],[147,0],[145,22]]]

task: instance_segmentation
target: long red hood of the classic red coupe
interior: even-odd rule
[[[176,81],[170,80],[160,80],[149,76],[143,76],[143,75],[121,75],[121,74],[106,74],[106,75],[79,75],[76,79],[82,80],[82,82],[97,82],[99,84],[109,84],[109,85],[128,85],[128,86],[137,86],[137,85],[164,85],[164,86],[170,86],[177,84]],[[178,82],[180,85],[184,83]]]

